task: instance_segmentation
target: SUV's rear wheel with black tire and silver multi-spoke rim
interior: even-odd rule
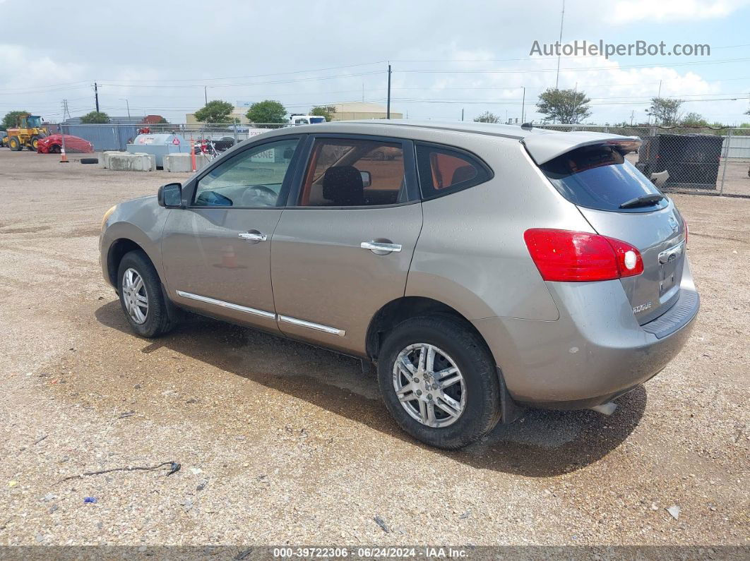
[[[398,425],[430,446],[461,448],[500,418],[495,362],[479,336],[455,318],[398,324],[380,352],[378,380]]]

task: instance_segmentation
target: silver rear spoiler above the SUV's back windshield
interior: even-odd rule
[[[637,150],[641,144],[637,136],[586,133],[584,131],[529,135],[520,142],[526,147],[526,151],[537,166],[584,146],[609,146],[624,156],[628,152]]]

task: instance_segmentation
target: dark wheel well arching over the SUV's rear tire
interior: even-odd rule
[[[378,310],[377,314],[370,321],[367,340],[365,342],[368,357],[372,360],[377,360],[386,336],[402,321],[425,315],[447,315],[458,319],[458,321],[466,326],[467,330],[475,333],[479,340],[484,343],[487,351],[490,351],[489,346],[484,342],[484,338],[478,330],[458,310],[432,298],[405,296],[387,303],[386,306]],[[490,356],[492,356],[491,351]]]

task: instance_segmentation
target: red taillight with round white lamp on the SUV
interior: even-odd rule
[[[545,281],[600,281],[643,273],[638,249],[613,237],[532,228],[523,240]]]

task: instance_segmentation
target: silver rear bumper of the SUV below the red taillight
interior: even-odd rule
[[[532,407],[592,407],[649,380],[685,345],[700,307],[687,261],[677,303],[643,326],[619,281],[548,285],[557,321],[473,322],[512,398]]]

